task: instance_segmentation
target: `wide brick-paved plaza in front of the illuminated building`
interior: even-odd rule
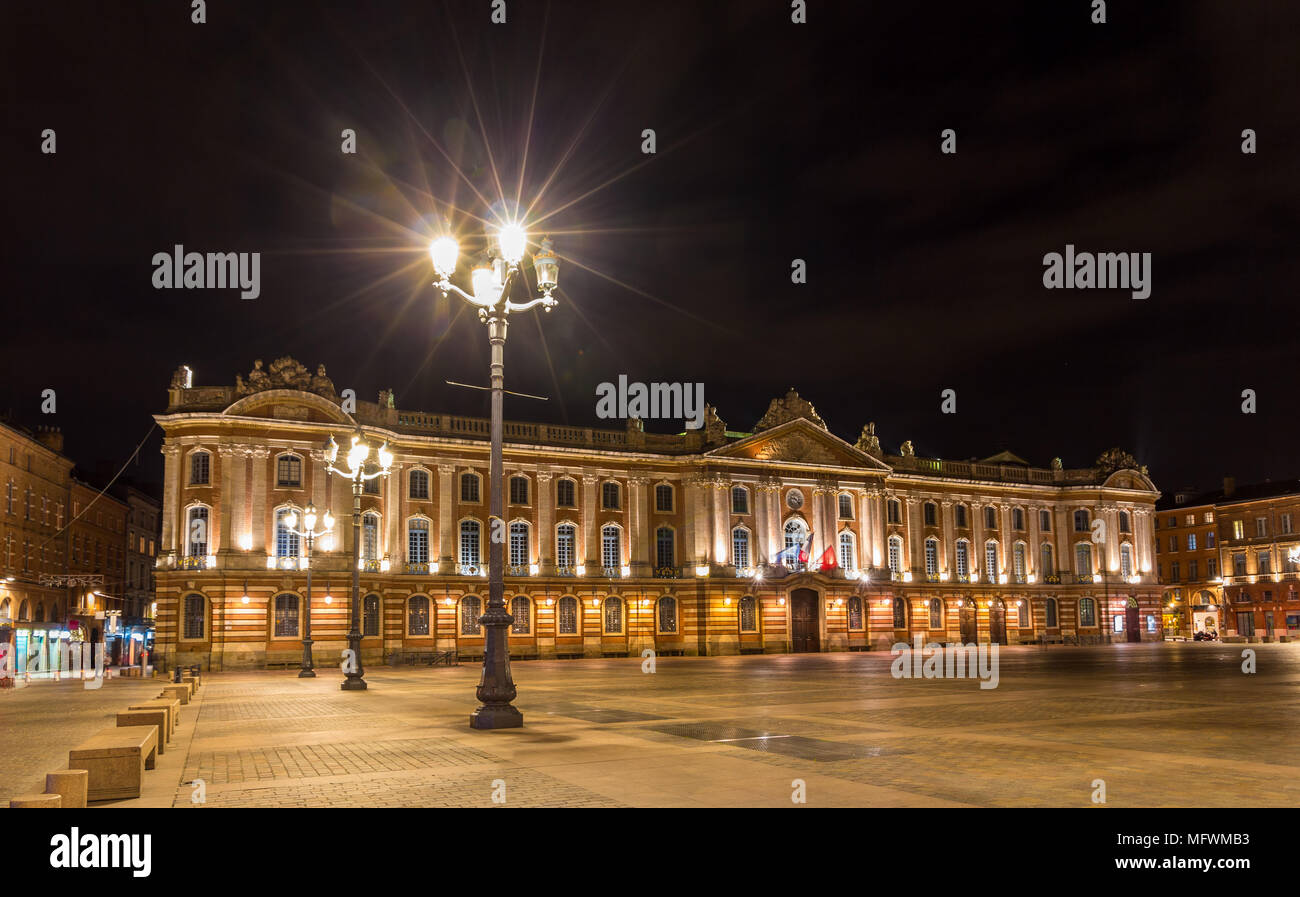
[[[99,806],[1295,806],[1300,646],[1015,647],[998,688],[885,653],[515,663],[525,728],[474,732],[478,667],[207,673],[138,801]],[[0,797],[157,684],[0,692]]]

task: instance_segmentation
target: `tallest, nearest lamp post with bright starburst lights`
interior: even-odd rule
[[[510,632],[515,618],[506,611],[504,546],[500,538],[502,523],[502,390],[504,380],[506,325],[511,312],[523,312],[541,306],[550,311],[556,300],[555,290],[559,264],[552,244],[542,239],[533,256],[537,289],[541,296],[524,303],[510,300],[511,281],[519,273],[519,263],[528,246],[528,233],[520,224],[506,224],[497,230],[494,254],[486,263],[476,264],[469,276],[472,292],[465,292],[451,282],[460,255],[460,244],[452,237],[439,237],[429,244],[438,280],[434,286],[446,296],[456,294],[478,308],[478,320],[488,325],[491,346],[491,455],[488,540],[488,610],[478,618],[484,634],[484,670],[476,692],[481,706],[469,715],[469,725],[476,729],[506,729],[524,724],[524,715],[511,703],[515,699],[515,681],[510,676]]]

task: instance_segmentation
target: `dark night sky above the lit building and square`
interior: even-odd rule
[[[521,185],[560,306],[514,321],[506,385],[550,402],[507,419],[621,426],[595,387],[623,373],[703,382],[732,429],[793,386],[890,452],[1300,477],[1300,4],[809,6],[6,3],[0,411],[109,473],[182,363],[217,385],[292,355],[486,415],[445,384],[486,384],[486,329],[425,247],[450,220],[472,248]],[[176,243],[260,252],[261,295],[155,290]],[[1045,290],[1066,243],[1150,252],[1150,298]],[[160,480],[159,445],[129,472]]]

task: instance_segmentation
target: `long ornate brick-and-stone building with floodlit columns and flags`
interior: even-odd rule
[[[338,516],[312,562],[321,663],[346,646],[350,484],[322,447],[358,426],[391,474],[363,498],[363,651],[482,654],[488,421],[403,411],[391,391],[341,407],[324,367],[256,363],[235,386],[177,372],[156,571],[164,662],[231,668],[302,655],[308,502]],[[1161,638],[1152,508],[1131,456],[1034,468],[881,450],[832,434],[793,390],[753,433],[708,408],[699,430],[507,421],[512,656],[838,651],[931,641]]]

